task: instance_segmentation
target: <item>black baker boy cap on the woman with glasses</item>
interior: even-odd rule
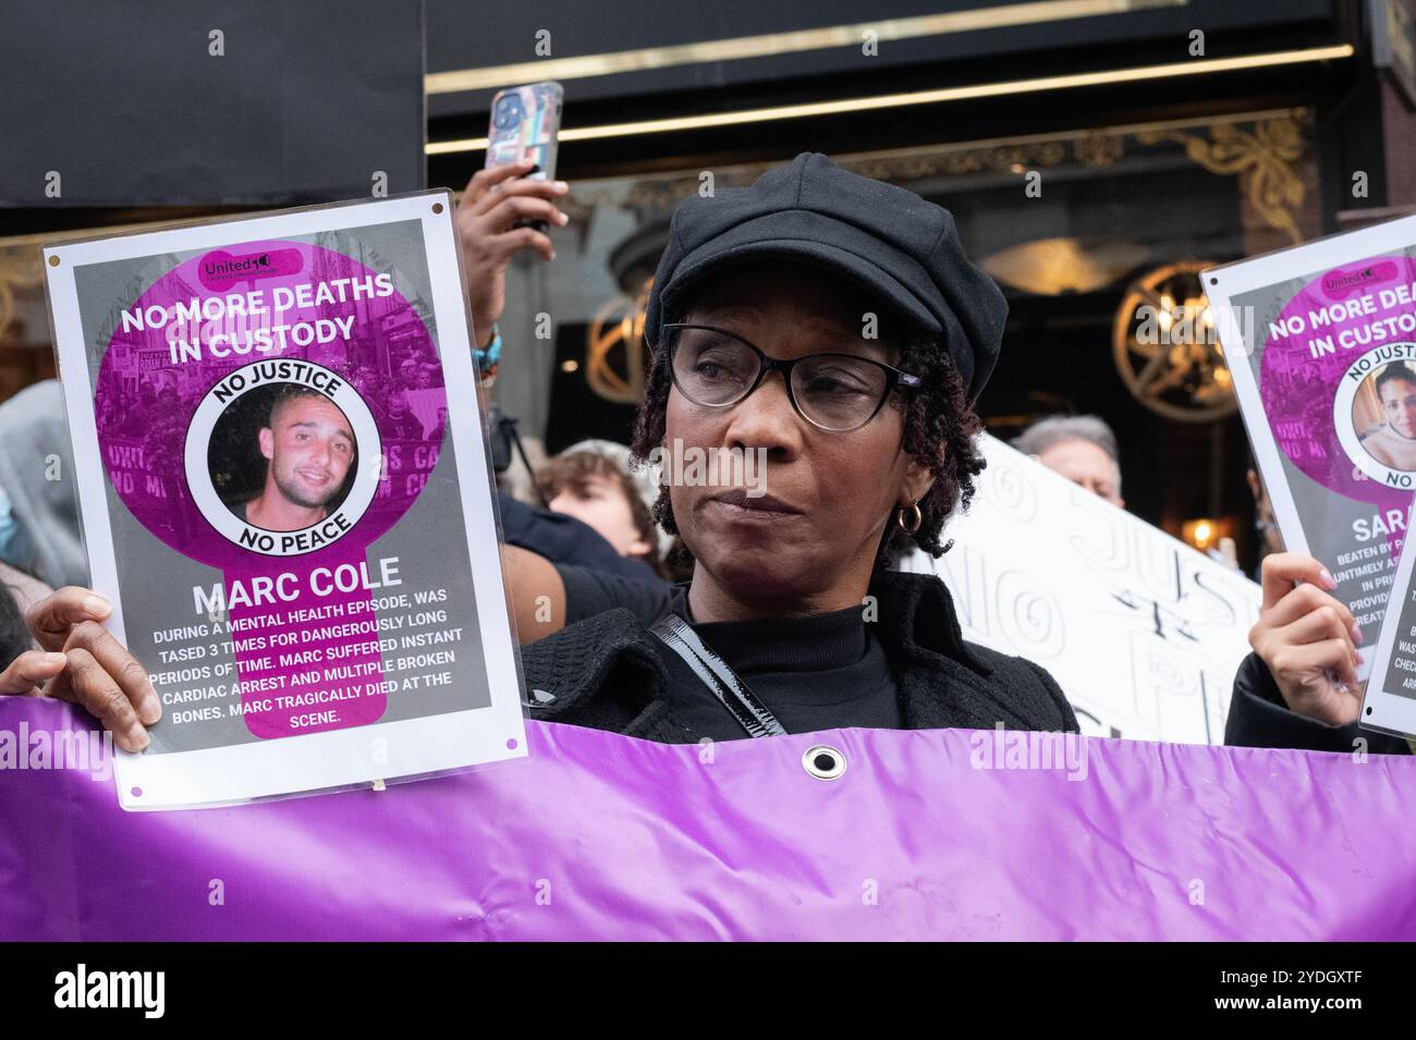
[[[858,283],[916,331],[936,335],[976,400],[998,361],[1008,304],[969,262],[953,215],[913,191],[801,153],[748,188],[678,204],[654,275],[644,335],[678,316],[711,272],[759,256],[792,256]]]

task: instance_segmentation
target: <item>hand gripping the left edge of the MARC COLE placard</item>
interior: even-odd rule
[[[0,672],[0,693],[42,693],[76,703],[113,733],[119,747],[142,751],[149,743],[144,723],[157,722],[163,709],[147,672],[103,628],[112,610],[92,590],[74,586],[40,600],[25,616],[40,649],[21,654]]]

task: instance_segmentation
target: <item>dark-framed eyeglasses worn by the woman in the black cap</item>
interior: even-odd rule
[[[779,361],[736,333],[712,325],[670,323],[660,342],[668,351],[674,386],[695,405],[732,408],[756,391],[767,372],[782,372],[796,413],[830,433],[861,429],[896,389],[923,385],[918,375],[858,354],[826,351]]]

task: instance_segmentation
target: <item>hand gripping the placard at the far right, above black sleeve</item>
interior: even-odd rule
[[[1357,722],[1362,706],[1355,647],[1362,632],[1352,611],[1328,594],[1335,587],[1311,556],[1266,556],[1263,610],[1249,645],[1269,666],[1289,710],[1345,726]]]

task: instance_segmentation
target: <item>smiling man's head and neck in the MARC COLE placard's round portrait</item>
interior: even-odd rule
[[[256,434],[266,460],[261,492],[232,511],[266,531],[300,531],[329,516],[346,494],[357,447],[350,420],[323,393],[283,389]]]

